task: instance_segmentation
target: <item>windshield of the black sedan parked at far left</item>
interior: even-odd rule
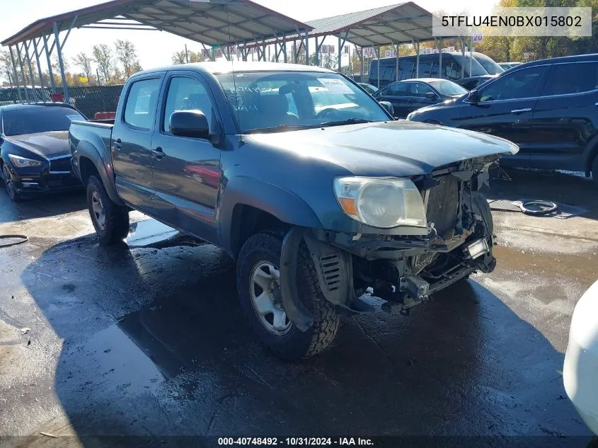
[[[4,135],[10,136],[67,131],[73,120],[85,120],[85,118],[71,108],[56,105],[34,105],[4,110],[1,125]]]

